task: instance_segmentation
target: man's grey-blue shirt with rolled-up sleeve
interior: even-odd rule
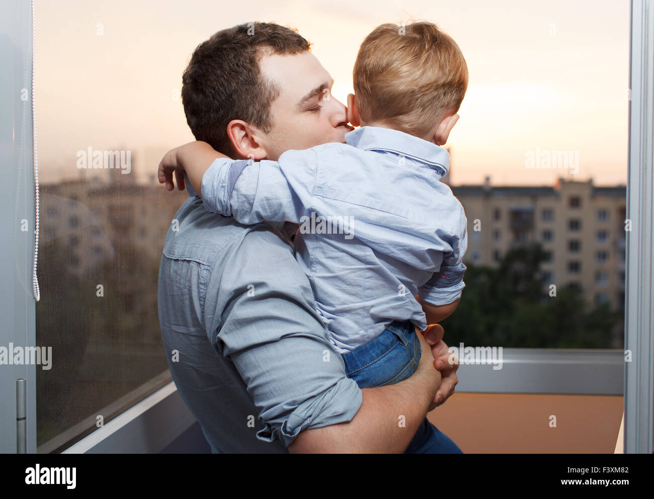
[[[215,453],[287,453],[302,430],[351,421],[347,378],[286,233],[207,212],[171,223],[158,312],[170,372]]]

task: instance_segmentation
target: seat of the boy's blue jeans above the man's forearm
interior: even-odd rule
[[[370,342],[343,354],[347,376],[360,388],[406,379],[420,360],[420,342],[411,323],[392,323]]]

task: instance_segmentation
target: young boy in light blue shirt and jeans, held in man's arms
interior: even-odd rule
[[[468,68],[436,25],[384,24],[362,43],[353,77],[347,118],[360,128],[346,144],[255,162],[192,142],[165,155],[159,180],[186,170],[207,210],[245,225],[300,223],[296,258],[348,376],[366,388],[413,373],[415,327],[452,314],[464,287],[467,221],[439,180]]]

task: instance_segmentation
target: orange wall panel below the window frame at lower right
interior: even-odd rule
[[[429,420],[464,453],[613,453],[622,414],[622,396],[455,393]]]

